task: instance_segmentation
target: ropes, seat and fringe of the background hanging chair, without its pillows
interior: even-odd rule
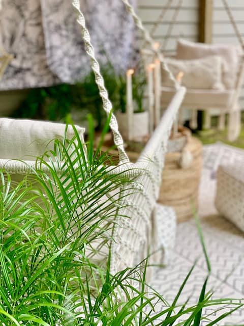
[[[156,32],[159,24],[164,19],[166,12],[168,9],[171,8],[173,0],[169,0],[162,10],[162,12],[159,15],[158,20],[154,24],[153,28],[150,31],[150,34],[153,36]],[[231,87],[228,87],[228,89],[191,89],[187,88],[187,93],[185,96],[185,99],[182,103],[182,106],[192,110],[192,120],[191,120],[191,126],[192,128],[197,127],[197,110],[206,110],[206,121],[205,126],[210,127],[210,113],[209,110],[212,110],[213,108],[217,108],[220,110],[220,116],[219,116],[219,129],[224,129],[225,124],[225,114],[229,114],[228,119],[228,139],[229,141],[234,141],[238,138],[239,132],[240,132],[240,105],[238,102],[241,88],[243,85],[243,76],[244,76],[244,40],[243,37],[238,29],[238,26],[235,22],[235,19],[233,17],[233,14],[231,12],[231,9],[228,5],[227,0],[222,0],[223,6],[226,10],[226,13],[229,17],[229,20],[233,26],[234,32],[237,36],[237,39],[240,43],[240,48],[237,48],[236,46],[236,53],[238,56],[238,64],[235,66],[235,81]],[[177,21],[178,14],[180,12],[180,9],[182,7],[182,0],[179,0],[175,11],[172,17],[171,22],[169,23],[164,41],[161,45],[159,45],[159,50],[163,53],[166,49],[168,40],[170,39],[173,27]],[[196,46],[200,43],[196,43]],[[218,46],[216,45],[208,45],[209,49],[211,51],[212,47]],[[232,47],[232,45],[226,44],[228,47]],[[218,54],[218,50],[216,50],[217,55],[221,56],[221,53]],[[143,55],[151,56],[152,51],[151,49],[144,49]],[[210,55],[206,55],[210,56]],[[204,57],[204,55],[200,56],[201,58]],[[200,58],[198,57],[198,58]],[[176,58],[178,59],[178,58]],[[183,58],[179,58],[183,59]],[[190,56],[190,58],[187,58],[187,55],[185,55],[184,60],[188,59],[195,59]],[[225,64],[229,65],[230,62],[226,62]],[[184,77],[183,77],[184,81]],[[168,103],[169,99],[171,98],[172,94],[174,93],[174,89],[170,86],[165,86],[162,84],[162,87],[158,93],[155,94],[155,105],[156,105],[156,111],[159,110],[160,106],[163,104],[164,106]]]

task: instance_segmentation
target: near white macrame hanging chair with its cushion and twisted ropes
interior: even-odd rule
[[[126,8],[128,8],[128,6],[130,7],[130,4],[127,1],[122,1],[127,6]],[[106,212],[106,214],[110,216],[110,212],[118,212],[119,208],[119,214],[116,213],[116,220],[113,221],[114,227],[111,230],[112,239],[111,237],[109,237],[111,242],[111,246],[109,246],[111,251],[110,273],[115,274],[117,273],[117,271],[123,270],[127,267],[134,267],[135,261],[139,263],[144,260],[148,256],[148,250],[150,250],[151,248],[150,245],[154,242],[152,239],[152,236],[154,235],[152,216],[155,214],[157,214],[158,216],[158,214],[160,213],[159,206],[157,205],[157,200],[159,197],[159,190],[161,186],[164,157],[167,151],[167,143],[171,128],[173,126],[175,117],[177,116],[178,110],[181,106],[182,99],[185,96],[186,89],[184,87],[179,87],[179,85],[175,82],[176,91],[174,92],[171,100],[167,105],[167,110],[165,111],[163,117],[160,119],[157,128],[151,135],[151,138],[147,142],[137,162],[135,164],[132,164],[129,160],[128,155],[126,154],[123,138],[121,137],[118,131],[118,124],[116,118],[113,114],[111,114],[112,104],[109,101],[108,92],[104,85],[104,80],[100,72],[99,63],[95,57],[94,48],[90,41],[89,32],[85,25],[85,18],[80,10],[79,0],[73,0],[73,6],[77,9],[78,12],[77,22],[80,25],[85,49],[88,57],[90,58],[90,64],[94,71],[95,80],[103,100],[103,110],[110,117],[109,126],[111,128],[111,131],[113,132],[114,145],[117,147],[118,150],[119,163],[116,167],[108,166],[107,173],[110,175],[115,174],[115,176],[116,174],[118,174],[120,177],[131,179],[131,182],[129,182],[129,184],[123,184],[123,186],[120,186],[120,184],[117,185],[117,195],[112,193],[106,194],[106,200],[111,200],[108,205],[109,207],[107,207],[108,211]],[[138,22],[139,18],[135,16],[136,14],[134,13],[134,10],[131,10],[135,22],[142,29],[142,24]],[[171,78],[171,81],[174,82],[174,78],[168,70],[166,64],[164,65],[162,63],[162,65],[162,69],[165,69],[165,72],[169,74],[169,78]],[[51,143],[48,143],[46,141],[51,139],[60,139],[60,133],[62,141],[62,127],[64,131],[65,126],[59,124],[52,124],[49,126],[47,123],[37,123],[29,121],[25,121],[23,125],[23,121],[13,121],[9,119],[7,119],[7,121],[2,120],[2,122],[5,125],[5,128],[0,128],[0,133],[2,133],[2,149],[0,148],[0,170],[8,172],[9,174],[11,174],[11,177],[17,175],[18,178],[22,178],[22,176],[25,174],[33,174],[35,172],[35,169],[48,173],[48,171],[46,172],[46,164],[36,164],[35,159],[31,161],[19,161],[18,159],[31,159],[33,158],[33,156],[41,155],[43,153],[43,147],[44,149],[46,149],[45,145],[51,145]],[[38,124],[37,126],[36,123]],[[81,145],[82,148],[84,144],[83,132],[84,129],[80,128],[78,137],[76,137],[76,141],[78,142],[78,144]],[[68,128],[66,133],[70,135],[72,140],[72,129],[69,130]],[[77,148],[77,146],[75,146],[75,148]],[[69,149],[70,148],[67,148],[68,153],[70,153]],[[85,147],[84,151],[86,151]],[[74,152],[73,149],[71,153],[72,152],[75,155],[74,161],[67,159],[64,162],[62,158],[58,160],[55,157],[54,162],[51,161],[51,168],[54,169],[56,174],[60,175],[60,177],[65,177],[65,180],[69,180],[69,170],[75,172],[77,169],[80,173],[79,164],[81,166],[84,164],[89,164],[89,161],[87,160],[85,154],[80,155],[80,153],[78,152],[77,155],[77,152]],[[78,167],[75,163],[77,162],[77,157],[79,157]],[[70,164],[70,166],[68,166],[67,174],[65,174],[65,171],[63,171],[64,163],[66,166],[67,164]],[[79,182],[79,178],[77,178],[76,182]],[[67,183],[68,185],[70,184],[69,181],[67,181]],[[87,192],[93,194],[93,182],[92,184],[88,183],[89,182],[87,181],[86,188],[90,187],[90,189],[87,188]],[[71,184],[71,187],[72,186],[73,185]],[[104,187],[104,184],[102,184],[101,186]],[[55,193],[56,189],[59,188],[60,182],[57,182],[57,186],[56,183],[54,183],[53,191]],[[60,205],[62,205],[62,196],[64,194],[67,198],[67,196],[73,196],[73,194],[75,193],[76,192],[74,192],[73,189],[70,192],[69,189],[68,192],[62,191],[61,189],[60,195],[59,191],[57,191],[57,202],[60,202],[61,200]],[[77,194],[78,197],[83,195],[79,192],[77,192]],[[99,199],[95,197],[95,199],[96,204],[99,205],[99,208],[101,208],[100,201],[104,202],[104,198]],[[72,201],[73,200],[76,199],[72,197]],[[61,208],[63,209],[63,207]],[[83,209],[83,207],[79,206],[79,209]],[[63,211],[65,212],[65,210]],[[85,214],[87,214],[87,212],[85,212]],[[75,226],[75,228],[77,226]],[[83,229],[81,230],[81,232],[84,232]],[[98,243],[98,246],[99,244],[100,243]],[[96,247],[96,249],[97,248],[99,248],[98,254],[102,254],[101,248]],[[95,255],[96,254],[97,251],[95,251]],[[104,254],[106,256],[106,250]],[[108,255],[105,258],[108,258]],[[95,259],[103,259],[103,262],[106,261],[104,257],[100,257],[99,255],[96,255]]]

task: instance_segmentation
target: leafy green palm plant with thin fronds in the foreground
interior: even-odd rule
[[[205,293],[207,280],[196,305],[179,306],[194,267],[172,304],[146,285],[147,260],[115,275],[109,273],[110,242],[123,212],[114,200],[129,196],[131,180],[108,173],[107,153],[100,148],[109,120],[96,151],[89,121],[86,149],[74,128],[76,137],[69,142],[55,140],[53,151],[38,158],[33,174],[17,186],[1,172],[1,324],[197,326],[205,307],[240,308],[238,301],[212,300],[211,293]],[[48,173],[43,172],[44,166]],[[125,193],[121,186],[126,186]],[[131,188],[129,193],[134,191]],[[102,249],[105,257],[98,260]],[[165,308],[156,312],[156,304]],[[159,317],[163,321],[157,321]],[[185,323],[179,323],[179,318],[185,318]]]

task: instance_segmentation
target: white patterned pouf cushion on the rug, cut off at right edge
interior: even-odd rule
[[[242,231],[244,231],[243,195],[243,165],[220,166],[217,172],[216,208]]]

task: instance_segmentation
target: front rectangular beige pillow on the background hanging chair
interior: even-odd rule
[[[201,59],[178,60],[167,58],[166,63],[176,77],[183,72],[181,84],[191,89],[222,90],[223,59],[220,56],[209,56]],[[168,78],[162,76],[162,85],[171,86]]]

